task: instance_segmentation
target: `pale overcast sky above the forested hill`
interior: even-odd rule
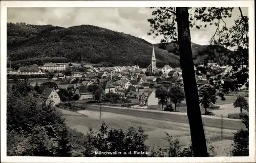
[[[242,11],[243,15],[248,15],[248,8],[242,8]],[[60,27],[93,25],[131,34],[150,43],[158,43],[161,37],[147,35],[150,31],[147,18],[151,18],[151,14],[150,8],[8,8],[7,22]],[[232,17],[226,19],[227,25],[232,26],[238,15],[238,8],[234,8]],[[191,29],[191,41],[207,44],[215,30],[214,26],[200,30]]]

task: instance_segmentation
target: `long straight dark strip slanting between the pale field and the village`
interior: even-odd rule
[[[86,109],[91,111],[99,111],[100,107],[88,105],[86,106]],[[130,110],[130,109],[119,109],[119,108],[111,108],[111,107],[104,107],[104,106],[102,106],[101,109],[104,112],[112,112],[112,113],[118,113],[118,114],[124,114],[124,115],[132,115],[135,117],[150,118],[150,119],[156,119],[156,120],[188,124],[187,115],[167,114],[167,113],[161,113],[161,112],[150,112],[150,111],[140,111],[140,110]],[[202,121],[204,126],[221,128],[220,119],[210,119],[210,118],[202,117]],[[223,120],[223,129],[238,130],[241,128],[245,128],[245,125],[240,121]]]

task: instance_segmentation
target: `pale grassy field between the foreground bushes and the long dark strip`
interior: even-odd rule
[[[80,110],[78,111],[79,113],[74,113],[68,110],[61,111],[64,114],[63,117],[66,118],[67,125],[84,134],[87,133],[89,127],[92,127],[97,131],[102,122],[105,122],[109,128],[122,128],[124,130],[127,130],[130,126],[142,126],[148,134],[146,144],[151,147],[153,144],[155,144],[155,146],[166,145],[166,142],[162,139],[162,137],[165,137],[164,132],[169,133],[174,138],[179,138],[181,145],[187,146],[190,142],[190,130],[188,124],[139,118],[111,112],[102,112],[102,119],[100,119],[99,112],[97,111]],[[86,116],[83,117],[81,114]],[[214,142],[212,144],[216,148],[218,147],[216,152],[219,156],[227,156],[227,153],[224,153],[223,151],[225,151],[225,148],[229,148],[233,132],[236,132],[236,130],[224,129],[224,140],[221,141],[221,130],[219,128],[205,127],[206,138]],[[222,152],[220,153],[219,151]]]

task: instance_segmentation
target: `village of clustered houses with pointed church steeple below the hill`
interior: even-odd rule
[[[17,70],[7,68],[7,83],[12,84],[16,78],[28,78],[31,86],[38,87],[38,92],[48,101],[52,101],[54,106],[74,100],[77,103],[95,100],[100,104],[111,104],[111,106],[161,110],[160,99],[156,97],[156,88],[165,86],[169,89],[172,85],[179,85],[183,89],[182,71],[180,67],[173,68],[169,65],[157,68],[154,46],[151,60],[147,68],[140,68],[138,65],[94,67],[92,64],[72,62],[21,66]],[[200,66],[203,65],[199,65],[198,68]],[[226,74],[231,71],[230,67],[221,67],[216,63],[208,63],[208,66],[222,69]],[[198,72],[197,67],[194,68],[195,72]],[[222,84],[229,80],[224,77],[224,73]],[[195,76],[198,89],[207,84],[211,78],[198,73]],[[98,88],[102,88],[104,98],[103,96],[96,98]],[[241,89],[246,87],[242,86]],[[67,92],[71,94],[68,96]],[[178,103],[180,111],[186,112],[185,106],[185,101]],[[211,107],[215,108],[215,106]],[[230,117],[228,113],[225,117]],[[219,113],[221,114],[223,112]]]

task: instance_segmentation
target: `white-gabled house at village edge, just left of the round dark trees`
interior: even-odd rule
[[[156,94],[154,91],[147,91],[147,95],[146,92],[143,92],[140,96],[139,96],[139,106],[146,106],[147,108],[159,108],[159,100],[158,98],[156,98]]]

